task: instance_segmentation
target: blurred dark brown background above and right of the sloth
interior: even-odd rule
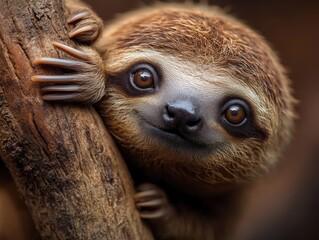
[[[143,5],[141,0],[87,2],[106,21]],[[275,173],[251,191],[233,239],[319,239],[319,1],[206,2],[268,40],[287,68],[299,100],[293,141]]]

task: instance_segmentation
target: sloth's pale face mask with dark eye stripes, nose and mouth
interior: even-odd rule
[[[171,151],[213,152],[233,139],[268,137],[256,119],[258,95],[217,70],[144,51],[109,80],[136,100],[134,128]]]

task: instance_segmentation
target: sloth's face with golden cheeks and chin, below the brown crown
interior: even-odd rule
[[[126,59],[109,75],[100,113],[134,161],[179,164],[214,189],[267,171],[270,116],[277,113],[254,89],[212,66],[151,50]]]

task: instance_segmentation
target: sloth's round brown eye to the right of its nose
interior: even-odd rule
[[[230,127],[242,126],[248,119],[250,107],[241,99],[231,99],[222,108],[224,124]]]

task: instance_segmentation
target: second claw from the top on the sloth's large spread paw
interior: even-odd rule
[[[51,65],[54,67],[61,67],[69,70],[82,70],[89,66],[87,63],[80,61],[50,57],[37,58],[34,60],[34,63],[40,65]]]

